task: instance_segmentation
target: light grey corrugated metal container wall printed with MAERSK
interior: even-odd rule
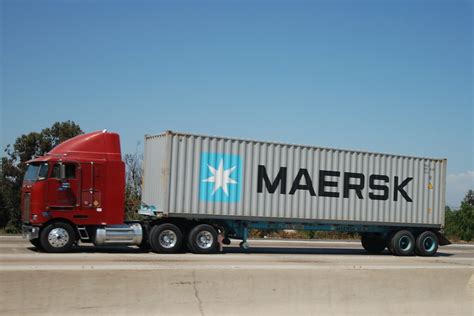
[[[258,192],[259,166],[265,167],[270,182],[281,167],[286,167],[285,194],[280,191],[282,183],[274,193],[269,193],[262,177],[263,190]],[[315,195],[308,186],[290,194],[302,168],[312,180]],[[167,133],[146,137],[144,169],[143,202],[168,216],[444,224],[446,160],[443,159]],[[326,181],[337,182],[337,187],[325,187],[325,191],[338,192],[339,197],[320,196],[320,170],[340,173],[325,177]],[[213,172],[221,176],[216,190]],[[344,173],[349,172],[364,175],[362,198],[354,190],[343,197]],[[372,174],[388,177],[387,200],[369,198],[371,192],[383,194],[369,188]],[[394,200],[395,177],[399,184],[413,178],[402,188],[411,202],[400,191],[398,200]],[[306,180],[303,176],[298,183],[305,187]],[[354,180],[357,183],[357,179],[349,183]]]

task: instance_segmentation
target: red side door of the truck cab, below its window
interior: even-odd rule
[[[72,209],[80,202],[77,165],[74,163],[64,163],[64,165],[65,179],[60,179],[60,164],[57,163],[53,166],[51,176],[47,180],[46,203],[53,209]]]

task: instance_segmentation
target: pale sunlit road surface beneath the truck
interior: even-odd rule
[[[0,314],[474,315],[474,245],[430,258],[367,255],[358,242],[250,246],[216,255],[90,246],[46,254],[0,236]]]

